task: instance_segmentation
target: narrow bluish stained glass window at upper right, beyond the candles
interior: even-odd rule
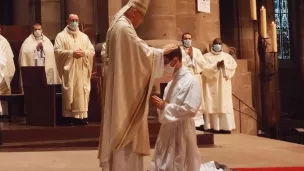
[[[278,34],[278,57],[279,59],[290,59],[288,0],[274,0],[274,5]]]

